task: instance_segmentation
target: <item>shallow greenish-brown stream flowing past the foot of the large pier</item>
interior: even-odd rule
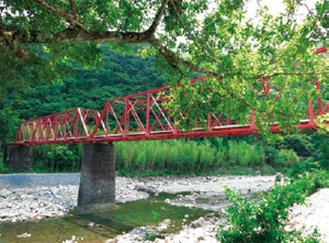
[[[1,242],[63,242],[72,235],[83,239],[84,242],[103,242],[115,238],[123,232],[128,232],[137,227],[157,225],[164,219],[170,219],[170,227],[162,233],[174,233],[182,229],[182,224],[211,212],[203,209],[177,207],[164,202],[174,200],[186,194],[160,194],[148,199],[125,203],[116,203],[116,208],[98,213],[78,214],[57,219],[46,219],[30,222],[1,223]],[[204,201],[203,201],[204,202]],[[189,218],[185,216],[189,214]],[[93,227],[88,224],[93,223]],[[23,233],[32,234],[30,238],[18,239]]]

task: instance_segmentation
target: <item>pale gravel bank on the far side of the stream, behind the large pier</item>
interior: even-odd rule
[[[33,177],[33,175],[31,175]],[[63,176],[63,175],[60,175]],[[35,177],[41,177],[35,175]],[[16,186],[15,184],[2,185],[0,189],[0,222],[31,221],[53,217],[64,217],[77,207],[78,186],[39,186],[36,181],[43,179],[25,180]],[[54,175],[49,175],[55,180]],[[68,174],[67,177],[75,177],[77,174]],[[60,178],[63,179],[63,178]],[[8,178],[7,178],[8,180]],[[65,181],[69,180],[68,178]],[[21,181],[21,180],[20,180]],[[27,181],[33,181],[27,183]],[[49,183],[49,180],[47,180]],[[76,184],[76,183],[75,183]],[[76,184],[78,185],[78,184]],[[167,200],[168,203],[185,207],[204,207],[195,202],[197,197],[207,198],[223,195],[226,185],[234,190],[241,190],[242,194],[263,191],[274,185],[274,176],[163,176],[163,177],[116,177],[116,201],[126,202],[147,198],[149,194],[141,191],[147,188],[155,194],[169,192],[177,194],[191,191],[192,195],[182,196],[177,200]]]

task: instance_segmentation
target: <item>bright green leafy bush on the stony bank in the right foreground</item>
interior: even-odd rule
[[[226,196],[232,202],[228,209],[228,228],[220,225],[217,234],[220,242],[320,242],[315,230],[309,236],[292,229],[286,231],[288,208],[304,203],[306,196],[318,188],[329,186],[329,176],[324,170],[304,173],[292,183],[274,186],[269,194],[260,194],[261,201],[248,201],[241,194],[226,188]]]

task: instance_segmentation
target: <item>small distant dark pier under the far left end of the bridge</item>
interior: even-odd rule
[[[10,170],[30,170],[32,169],[32,146],[12,146],[10,148],[8,168]]]

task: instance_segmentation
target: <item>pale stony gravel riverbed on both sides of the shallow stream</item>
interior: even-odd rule
[[[30,175],[34,178],[33,175]],[[64,217],[77,207],[79,174],[67,174],[65,185],[56,185],[63,174],[52,175],[47,180],[47,175],[39,176],[37,179],[26,179],[24,183],[8,183],[10,179],[0,175],[0,222],[19,222],[39,220],[50,217]],[[19,176],[20,177],[20,176]],[[19,178],[18,177],[18,178]],[[12,179],[12,178],[11,178]],[[226,185],[234,190],[241,190],[248,195],[254,191],[264,191],[274,185],[274,176],[164,176],[164,177],[116,177],[116,201],[126,202],[149,197],[149,194],[141,191],[140,188],[147,188],[152,192],[178,194],[191,191],[190,195],[182,195],[174,200],[166,200],[167,203],[185,207],[201,207],[214,211],[222,208],[209,205],[200,205],[195,202],[196,198],[207,198],[223,196]],[[46,181],[46,183],[45,183]],[[50,183],[49,183],[50,181]],[[46,184],[47,186],[42,186]],[[322,192],[325,191],[325,192]],[[328,240],[329,225],[329,189],[324,189],[309,198],[311,207],[296,206],[291,216],[292,224],[307,229],[317,225],[322,233],[322,239]],[[324,214],[325,213],[325,214]],[[327,213],[327,214],[326,214]],[[186,216],[189,217],[189,216]],[[216,232],[213,230],[220,223],[220,219],[214,214],[207,214],[200,218],[189,225],[184,225],[182,231],[175,234],[167,234],[163,239],[157,239],[156,242],[216,242]],[[170,224],[170,220],[164,220],[156,227],[141,227],[132,232],[117,235],[115,239],[109,239],[106,242],[139,242],[145,241],[146,232],[161,232]],[[26,232],[29,234],[29,232]],[[0,235],[1,238],[1,235]],[[76,236],[66,242],[77,242]],[[329,242],[329,240],[328,240]]]

